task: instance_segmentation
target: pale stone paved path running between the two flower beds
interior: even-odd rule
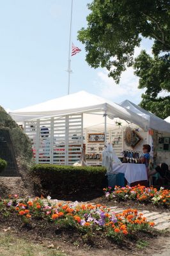
[[[43,200],[45,204],[47,204],[47,200]],[[62,200],[50,200],[51,204],[55,204],[56,202],[65,202]],[[70,202],[70,201],[69,201]],[[71,202],[70,202],[71,203]],[[87,202],[79,202],[79,204],[87,204]],[[93,205],[93,204],[92,204]],[[111,212],[122,212],[123,208],[118,208],[116,206],[108,207],[111,209]],[[170,214],[169,212],[150,212],[150,211],[139,211],[143,213],[143,216],[146,217],[148,221],[153,221],[155,223],[154,228],[157,230],[170,230]]]

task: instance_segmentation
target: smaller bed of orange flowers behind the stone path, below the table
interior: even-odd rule
[[[109,200],[137,200],[142,203],[150,203],[155,205],[162,205],[169,207],[170,205],[170,190],[160,188],[146,188],[145,186],[126,186],[124,188],[115,186],[114,190],[112,188],[104,188],[105,197]]]

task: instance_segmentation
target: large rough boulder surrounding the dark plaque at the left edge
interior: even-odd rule
[[[33,195],[33,180],[30,169],[33,164],[33,152],[31,141],[28,136],[20,129],[19,125],[8,113],[0,106],[0,129],[8,129],[13,144],[13,150],[19,170],[19,179],[1,177],[0,174],[0,195],[17,193],[20,196]],[[17,180],[17,183],[16,183]],[[17,188],[17,189],[16,189]]]

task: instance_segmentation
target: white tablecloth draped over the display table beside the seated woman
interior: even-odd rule
[[[145,164],[112,164],[112,173],[124,173],[125,179],[127,180],[128,184],[140,181],[140,180],[147,180],[147,172]],[[109,173],[108,173],[109,174]]]

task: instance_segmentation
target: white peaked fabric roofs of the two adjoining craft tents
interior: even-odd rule
[[[133,103],[130,102],[130,104]],[[139,125],[139,127],[145,130],[148,128],[158,129],[159,124],[157,125],[154,123],[155,125],[150,125],[150,118],[148,118],[147,115],[144,113],[144,109],[139,108],[141,109],[140,113],[139,109],[137,109],[136,111],[134,110],[134,108],[136,107],[139,108],[135,104],[132,106],[130,105],[130,107],[123,106],[123,102],[119,105],[111,102],[110,100],[98,97],[97,95],[81,91],[53,100],[48,100],[47,102],[36,104],[27,108],[11,111],[10,115],[16,122],[22,122],[25,120],[44,118],[49,116],[102,112],[107,113],[107,116],[111,119],[120,118],[123,120],[128,120],[129,122]],[[148,113],[148,111],[146,112]],[[155,118],[157,118],[157,116],[155,116]],[[164,124],[168,124],[160,118],[156,119],[156,121],[158,123],[160,123],[161,121],[164,122]],[[168,128],[168,131],[170,131],[170,125]],[[160,131],[167,131],[167,126],[165,130]]]

